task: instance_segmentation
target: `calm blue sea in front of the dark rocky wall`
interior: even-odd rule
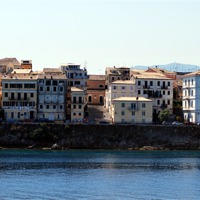
[[[200,152],[0,150],[4,199],[200,199]]]

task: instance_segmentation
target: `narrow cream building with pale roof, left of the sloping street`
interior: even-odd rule
[[[86,109],[86,91],[71,87],[71,122],[83,122]]]

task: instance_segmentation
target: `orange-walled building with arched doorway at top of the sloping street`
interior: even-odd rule
[[[88,75],[87,104],[104,105],[105,75]]]

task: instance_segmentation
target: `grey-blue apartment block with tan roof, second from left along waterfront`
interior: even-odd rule
[[[66,82],[62,73],[38,75],[38,119],[66,119]]]

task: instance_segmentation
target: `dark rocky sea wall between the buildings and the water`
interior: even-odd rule
[[[200,126],[2,124],[2,147],[200,149]]]

